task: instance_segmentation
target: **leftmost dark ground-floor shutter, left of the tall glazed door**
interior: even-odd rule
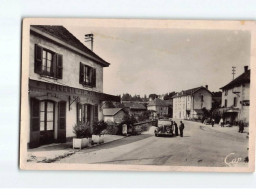
[[[40,101],[31,98],[30,102],[30,143],[31,148],[38,147],[40,143]]]

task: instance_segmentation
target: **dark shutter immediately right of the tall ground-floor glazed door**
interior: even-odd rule
[[[59,102],[58,104],[58,142],[66,142],[66,102]]]

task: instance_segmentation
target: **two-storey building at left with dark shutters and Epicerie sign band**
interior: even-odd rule
[[[103,119],[103,68],[110,64],[63,26],[30,26],[27,143],[30,148],[74,137],[76,123]],[[93,133],[93,130],[92,130]]]

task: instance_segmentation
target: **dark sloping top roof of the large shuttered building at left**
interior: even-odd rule
[[[65,43],[67,43],[68,45],[71,45],[71,46],[81,50],[82,52],[85,52],[85,53],[93,56],[101,63],[101,65],[109,66],[108,62],[106,62],[101,57],[99,57],[97,54],[95,54],[92,50],[88,49],[73,34],[71,34],[65,27],[51,26],[51,25],[31,25],[31,27],[34,27],[44,33],[47,33]]]

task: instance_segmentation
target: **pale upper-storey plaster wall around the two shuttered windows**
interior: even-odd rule
[[[39,74],[34,73],[34,50],[35,44],[38,44],[44,48],[47,48],[53,52],[63,55],[63,78],[54,80],[51,78],[40,77]],[[88,88],[79,84],[79,71],[80,62],[87,64],[96,69],[96,87]],[[29,76],[31,79],[40,81],[55,82],[56,84],[64,84],[70,87],[93,90],[97,92],[103,92],[103,67],[83,56],[73,53],[64,47],[56,45],[42,37],[30,34],[30,58],[29,58]]]

